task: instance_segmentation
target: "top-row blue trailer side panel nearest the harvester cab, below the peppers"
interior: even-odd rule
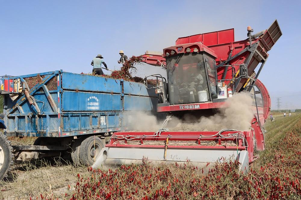
[[[158,95],[155,93],[154,88],[147,89],[143,83],[124,81],[123,91],[124,94],[158,97]]]

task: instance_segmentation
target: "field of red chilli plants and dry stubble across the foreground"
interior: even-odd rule
[[[0,199],[301,199],[301,115],[267,121],[266,149],[248,175],[237,162],[200,175],[185,165],[92,170],[60,159],[15,166]]]

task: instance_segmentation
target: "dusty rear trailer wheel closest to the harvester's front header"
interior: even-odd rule
[[[92,166],[104,143],[98,136],[90,136],[82,141],[79,151],[79,160],[83,165]]]

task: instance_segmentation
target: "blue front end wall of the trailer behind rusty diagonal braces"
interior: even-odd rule
[[[58,74],[58,71],[40,73],[40,75]],[[37,74],[24,75],[22,77],[33,77]],[[51,78],[48,79],[48,81]],[[47,82],[45,82],[47,84]],[[39,84],[36,84],[37,87]],[[43,85],[41,85],[43,86]],[[45,87],[45,86],[43,86]],[[44,88],[47,90],[47,88]],[[5,130],[5,134],[8,136],[43,136],[43,137],[55,137],[58,135],[58,112],[55,108],[52,108],[47,95],[50,94],[54,101],[54,107],[58,105],[58,90],[47,91],[45,94],[44,89],[39,87],[37,89],[31,88],[31,96],[34,97],[41,113],[36,116],[31,105],[24,95],[20,95],[17,100],[12,101],[7,95],[5,96],[5,123],[8,124],[8,128]],[[49,92],[49,93],[48,93]],[[20,103],[18,103],[20,102]],[[16,109],[13,107],[18,105]]]

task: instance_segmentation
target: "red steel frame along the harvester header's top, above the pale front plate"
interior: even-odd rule
[[[254,130],[246,131],[224,131],[216,135],[219,131],[196,131],[196,132],[116,132],[111,136],[107,148],[138,148],[138,149],[202,149],[202,150],[247,150],[249,152],[249,162],[253,162],[254,157]],[[228,135],[231,135],[230,137]],[[234,136],[236,134],[236,136]],[[225,138],[227,137],[227,138]],[[202,145],[201,142],[216,142],[216,146]],[[237,142],[236,142],[237,141]],[[131,144],[135,142],[135,144]],[[139,144],[137,144],[137,142]],[[164,145],[145,144],[146,142],[163,142]],[[169,143],[194,142],[195,145],[171,145]],[[225,142],[225,145],[223,145]],[[229,146],[227,142],[236,142],[237,145]],[[147,156],[147,155],[146,155]]]

